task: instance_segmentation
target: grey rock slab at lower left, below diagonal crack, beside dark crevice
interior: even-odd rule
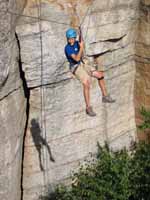
[[[18,89],[5,97],[0,101],[0,108],[0,199],[19,200],[26,120],[23,90]]]

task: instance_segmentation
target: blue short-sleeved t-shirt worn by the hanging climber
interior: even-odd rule
[[[68,59],[68,62],[70,63],[70,68],[72,68],[76,64],[80,64],[80,61],[75,61],[71,55],[75,54],[77,55],[80,50],[79,42],[75,41],[74,45],[70,45],[69,43],[65,46],[65,54]]]

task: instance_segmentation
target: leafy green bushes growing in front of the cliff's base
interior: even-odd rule
[[[81,166],[72,185],[58,186],[43,200],[150,200],[150,145],[136,145],[131,155],[100,147],[95,161]]]

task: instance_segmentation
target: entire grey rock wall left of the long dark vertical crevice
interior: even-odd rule
[[[22,144],[26,100],[18,65],[15,26],[24,1],[0,2],[0,199],[21,196]]]

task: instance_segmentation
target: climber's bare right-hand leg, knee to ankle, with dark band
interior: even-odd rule
[[[93,71],[92,72],[92,76],[95,77],[95,78],[101,78],[103,77],[103,72],[99,72],[99,71]],[[105,87],[105,81],[104,79],[102,80],[98,80],[98,84],[99,84],[99,87],[102,91],[102,95],[103,96],[107,96],[107,91],[106,91],[106,87]]]

